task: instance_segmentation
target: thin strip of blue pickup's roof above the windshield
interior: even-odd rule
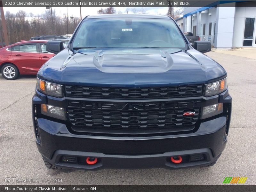
[[[85,18],[86,19],[101,19],[101,18],[170,19],[170,17],[166,15],[147,15],[147,14],[100,14],[100,15],[88,15]]]

